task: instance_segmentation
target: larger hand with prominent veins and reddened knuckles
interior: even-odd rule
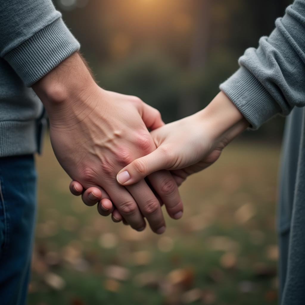
[[[137,97],[100,88],[77,53],[33,89],[48,112],[55,155],[70,177],[84,188],[97,187],[104,193],[104,202],[111,199],[131,227],[143,230],[144,216],[154,232],[163,233],[159,201],[144,179],[127,189],[116,181],[122,166],[156,149],[147,128],[163,126],[160,113]],[[182,203],[171,174],[158,171],[148,179],[169,215],[180,218]],[[86,203],[96,203],[95,197]]]

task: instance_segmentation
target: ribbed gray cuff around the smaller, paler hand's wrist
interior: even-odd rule
[[[275,99],[245,67],[240,67],[219,88],[251,124],[251,129],[257,129],[280,111]]]

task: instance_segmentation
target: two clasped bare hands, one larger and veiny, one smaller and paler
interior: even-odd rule
[[[222,92],[198,113],[164,125],[137,97],[100,88],[77,53],[33,89],[48,112],[55,155],[74,179],[71,192],[137,231],[144,218],[152,231],[165,231],[163,203],[170,217],[181,218],[178,186],[247,127]]]

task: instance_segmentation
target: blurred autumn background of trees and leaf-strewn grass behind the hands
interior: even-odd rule
[[[55,0],[100,86],[165,122],[205,107],[289,0]],[[277,171],[284,119],[246,131],[181,186],[167,231],[135,232],[70,195],[48,139],[37,158],[30,305],[276,304]]]

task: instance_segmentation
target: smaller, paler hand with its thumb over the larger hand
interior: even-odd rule
[[[180,178],[177,181],[180,184],[189,175],[213,164],[224,147],[247,127],[249,123],[242,113],[221,91],[198,113],[151,131],[157,149],[122,168],[117,174],[117,182],[128,186],[158,170],[170,170]],[[74,195],[81,194],[83,189],[77,181],[70,184]],[[91,191],[95,189],[91,188]],[[87,194],[88,190],[83,196]],[[105,204],[108,210],[103,215],[112,212],[117,221],[125,223],[124,216],[111,202]]]

